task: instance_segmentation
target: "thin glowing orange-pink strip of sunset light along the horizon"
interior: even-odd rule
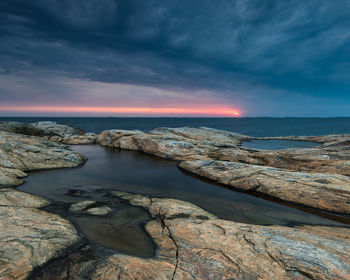
[[[104,113],[104,114],[189,114],[238,117],[240,111],[232,108],[151,108],[151,107],[63,107],[63,106],[1,106],[6,112],[48,113]]]

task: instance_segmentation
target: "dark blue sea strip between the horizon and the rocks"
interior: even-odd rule
[[[288,136],[350,134],[350,117],[338,118],[9,118],[0,121],[36,122],[53,120],[100,133],[106,129],[139,129],[156,127],[207,126],[249,136]]]

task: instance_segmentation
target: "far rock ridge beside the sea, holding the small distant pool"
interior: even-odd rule
[[[275,151],[240,147],[243,140],[284,139],[324,143],[316,148]],[[303,172],[350,175],[350,136],[290,136],[252,138],[210,128],[158,128],[139,131],[104,131],[97,142],[102,146],[137,150],[171,160],[224,160],[264,165]],[[332,144],[332,145],[330,145]]]

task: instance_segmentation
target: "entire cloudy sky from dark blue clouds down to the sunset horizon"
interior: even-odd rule
[[[1,0],[0,116],[350,116],[348,0]]]

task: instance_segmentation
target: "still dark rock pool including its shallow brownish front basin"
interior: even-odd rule
[[[69,205],[82,200],[111,204],[105,190],[120,190],[192,202],[227,220],[259,225],[340,225],[347,217],[300,210],[254,195],[237,192],[184,173],[175,162],[139,152],[105,149],[97,145],[73,146],[88,161],[73,169],[33,172],[19,189]],[[85,197],[71,196],[73,192]],[[150,256],[153,242],[143,230],[150,219],[142,208],[112,203],[105,217],[68,216],[94,243],[122,252]],[[136,240],[136,241],[135,241]]]

